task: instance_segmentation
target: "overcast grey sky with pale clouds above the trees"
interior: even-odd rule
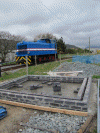
[[[29,41],[51,33],[66,44],[100,45],[100,0],[0,0],[0,31]]]

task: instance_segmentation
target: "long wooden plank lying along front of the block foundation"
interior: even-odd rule
[[[12,102],[12,101],[1,100],[1,99],[0,99],[0,103],[19,106],[19,107],[25,107],[25,108],[31,108],[31,109],[36,109],[36,110],[49,111],[49,112],[58,112],[58,113],[78,115],[78,116],[88,116],[88,112],[81,112],[81,111],[74,111],[74,110],[66,110],[66,109],[58,109],[58,108],[37,106],[37,105],[24,104],[24,103]]]

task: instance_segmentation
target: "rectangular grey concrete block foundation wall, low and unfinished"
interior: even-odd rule
[[[26,81],[49,81],[49,82],[61,82],[61,83],[81,83],[80,90],[77,97],[68,98],[63,96],[54,96],[37,93],[27,93],[12,91],[12,87],[19,86]],[[29,75],[23,76],[5,83],[0,84],[0,99],[38,105],[46,107],[54,107],[60,109],[76,110],[76,111],[88,111],[88,101],[91,89],[92,78],[79,78],[79,77],[54,77],[44,75]]]

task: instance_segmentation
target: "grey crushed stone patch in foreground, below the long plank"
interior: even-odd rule
[[[30,117],[22,133],[76,133],[86,119],[83,116],[44,112]]]

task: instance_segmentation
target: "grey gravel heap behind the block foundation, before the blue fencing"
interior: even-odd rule
[[[81,73],[78,74],[78,77],[89,77],[93,75],[100,75],[100,66],[81,63],[81,62],[64,62],[53,71],[54,72],[83,71],[82,74]]]

